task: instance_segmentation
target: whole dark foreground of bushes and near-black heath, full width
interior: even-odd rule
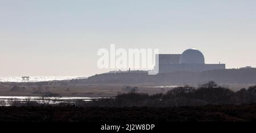
[[[183,122],[256,121],[256,86],[233,92],[214,81],[199,88],[177,87],[167,93],[129,93],[93,101],[14,102],[0,107],[0,121]],[[54,95],[53,95],[54,96]]]

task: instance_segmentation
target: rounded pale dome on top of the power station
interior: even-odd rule
[[[204,64],[204,55],[197,49],[187,49],[180,55],[180,64]]]

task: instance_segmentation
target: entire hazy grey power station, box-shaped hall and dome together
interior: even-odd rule
[[[225,69],[225,64],[205,64],[203,53],[197,49],[187,49],[182,54],[158,54],[156,66],[159,73],[177,71],[201,72]]]

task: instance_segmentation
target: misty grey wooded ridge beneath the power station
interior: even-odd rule
[[[204,72],[172,72],[148,75],[147,72],[106,73],[75,80],[77,83],[170,83],[196,84],[214,80],[217,83],[255,84],[256,68],[210,70]]]

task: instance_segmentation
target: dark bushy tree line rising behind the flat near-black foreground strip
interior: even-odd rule
[[[115,98],[94,100],[92,102],[77,103],[77,106],[199,106],[199,105],[222,105],[222,104],[252,104],[256,102],[256,86],[243,88],[233,92],[228,88],[219,87],[215,82],[210,81],[194,87],[177,87],[167,93],[148,95],[143,93],[130,92],[121,94]]]

